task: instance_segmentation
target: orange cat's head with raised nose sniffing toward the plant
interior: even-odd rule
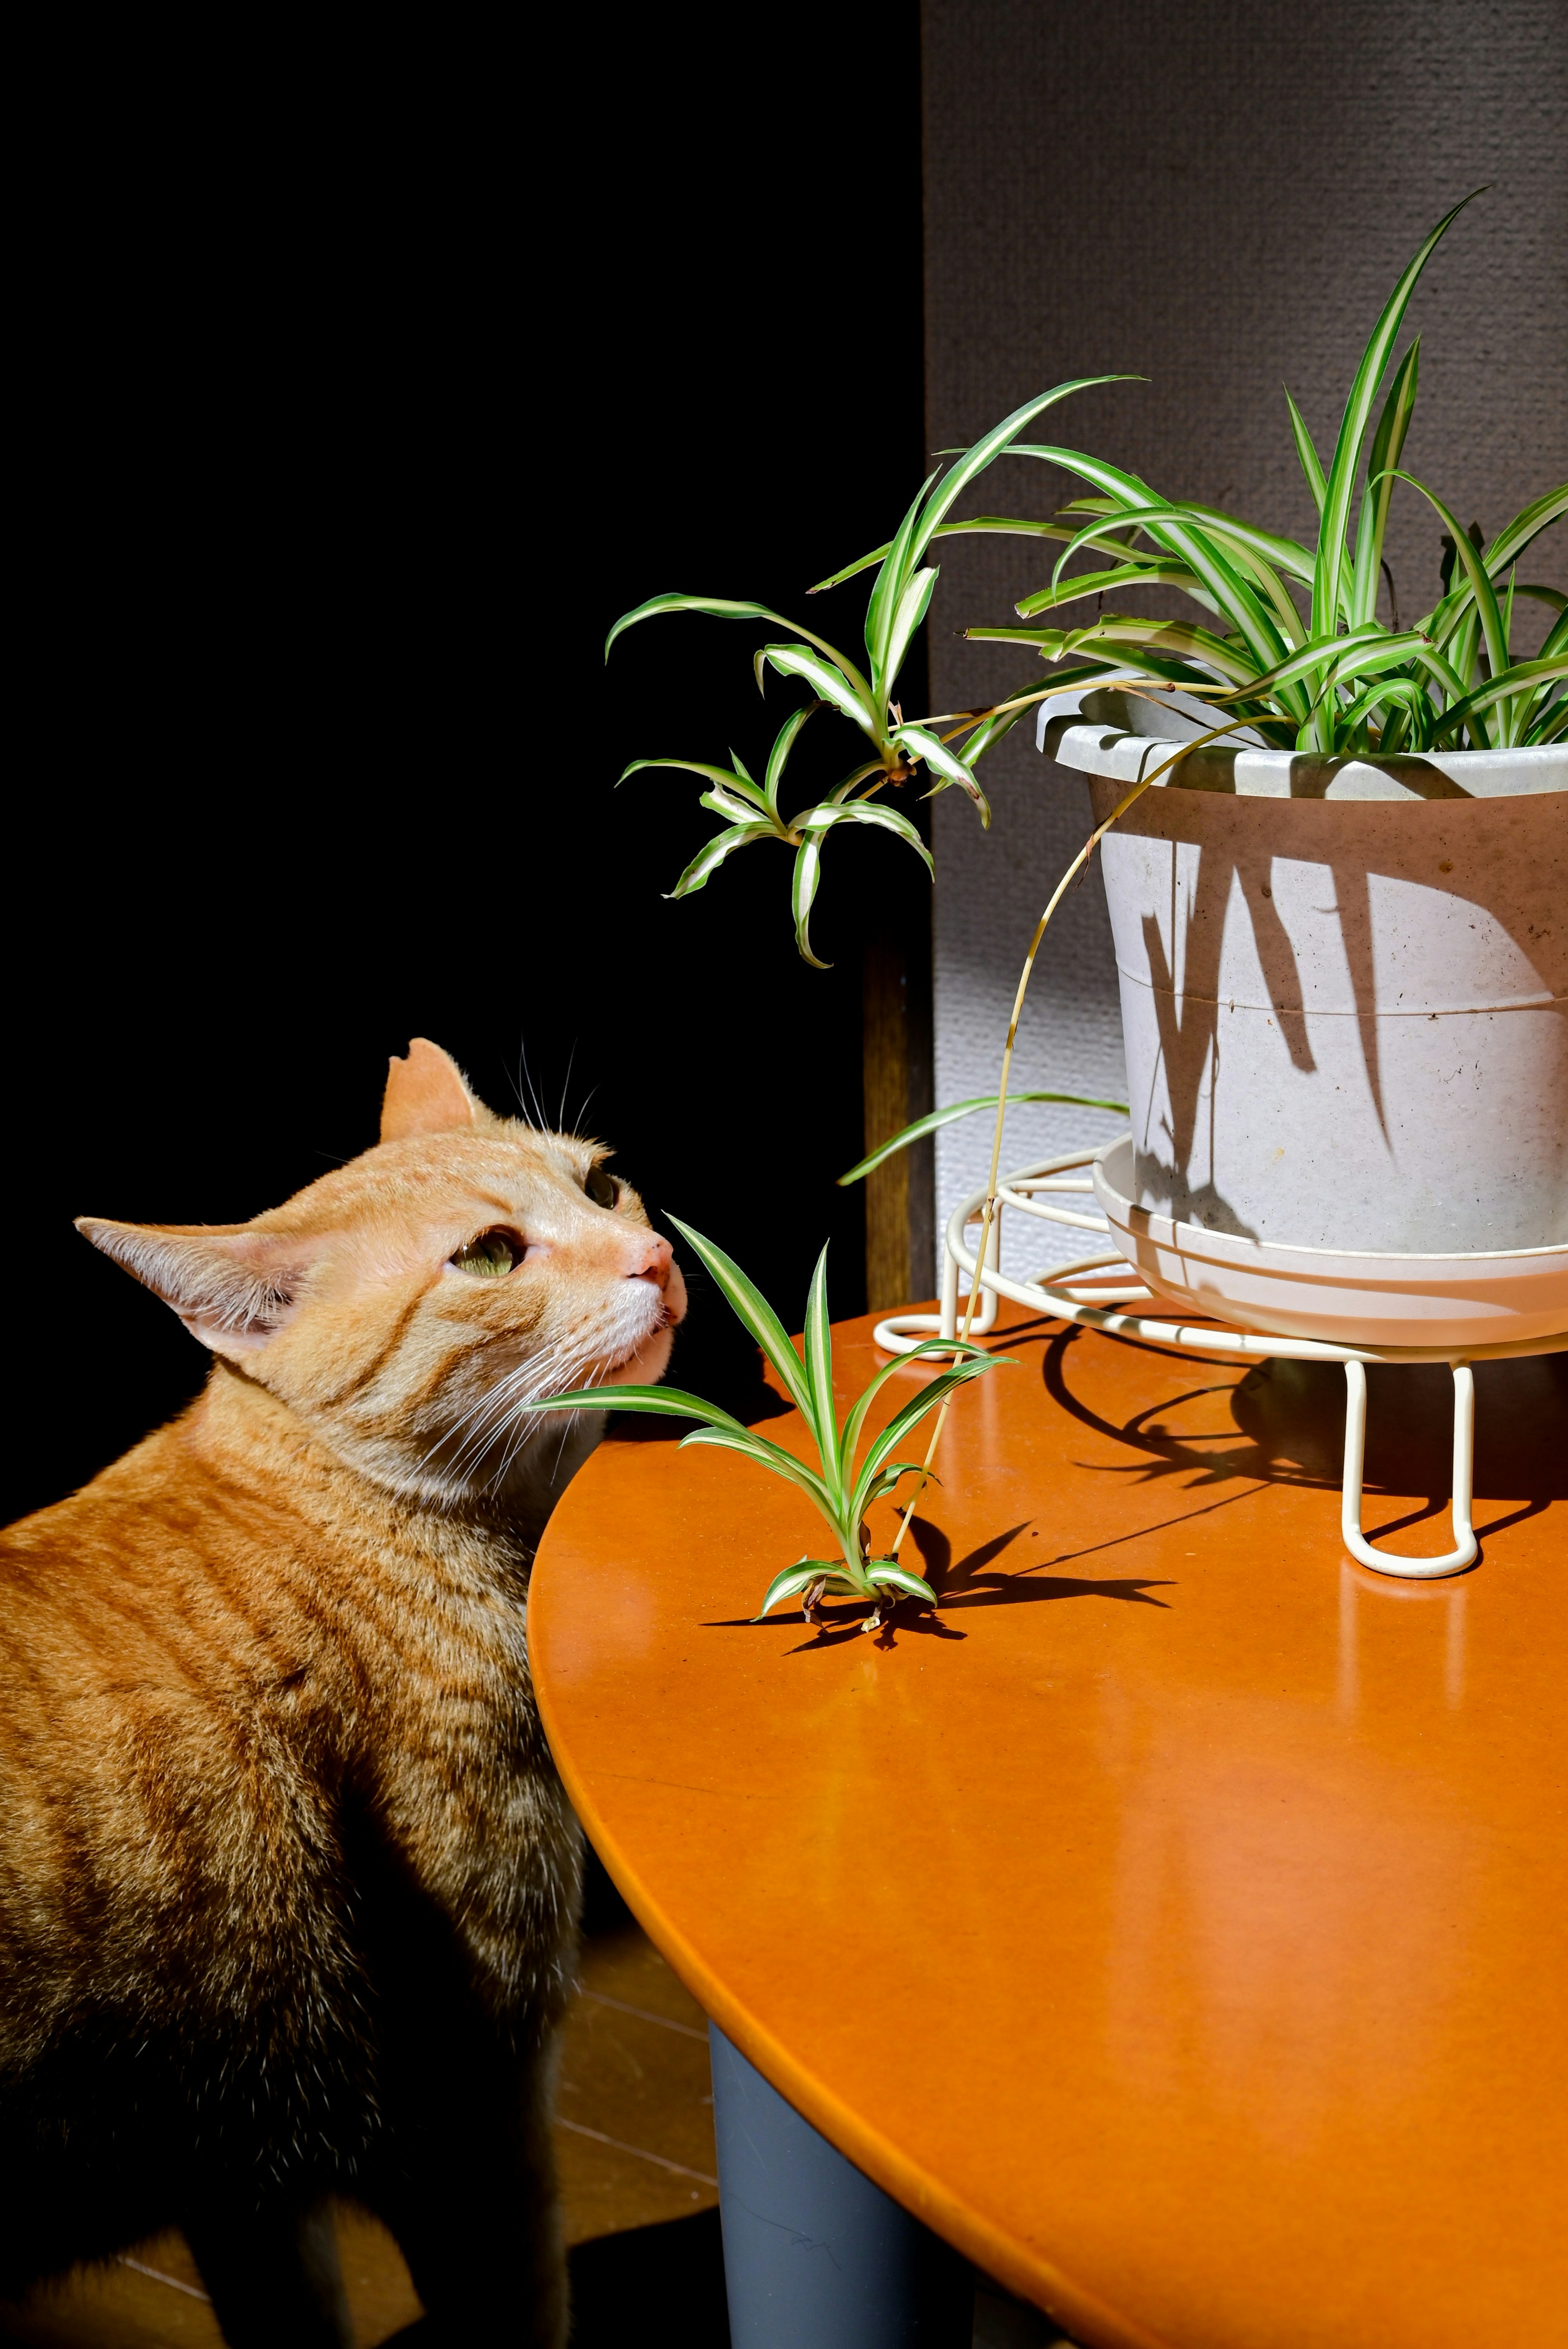
[[[538,1395],[648,1384],[685,1285],[641,1198],[575,1135],[498,1118],[415,1036],[380,1142],[249,1224],[110,1224],[96,1247],[336,1452],[423,1499],[521,1494],[575,1452]]]

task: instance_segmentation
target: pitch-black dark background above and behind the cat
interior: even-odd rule
[[[782,848],[664,902],[714,817],[615,775],[756,763],[791,688],[761,705],[765,632],[704,618],[601,662],[667,587],[805,618],[925,470],[918,12],[791,23],[765,54],[629,12],[554,54],[138,33],[45,75],[5,1515],[204,1377],[70,1217],[277,1205],[373,1142],[411,1034],[608,1137],[793,1322],[829,1233],[861,1306],[866,890],[925,883],[833,841],[831,972]],[[847,648],[864,587],[812,608]],[[850,766],[836,723],[807,780]],[[697,1292],[678,1374],[746,1367]]]

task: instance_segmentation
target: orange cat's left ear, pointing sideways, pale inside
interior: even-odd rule
[[[108,1224],[80,1214],[75,1229],[174,1306],[192,1337],[232,1362],[265,1346],[296,1313],[312,1243],[246,1224]]]

